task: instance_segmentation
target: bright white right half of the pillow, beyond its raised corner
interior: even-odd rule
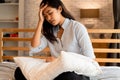
[[[98,62],[77,53],[62,51],[60,60],[67,71],[74,71],[77,74],[86,76],[96,76],[102,73]]]

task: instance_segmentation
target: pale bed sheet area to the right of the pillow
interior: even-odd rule
[[[101,66],[102,74],[91,77],[91,80],[120,80],[120,67]]]

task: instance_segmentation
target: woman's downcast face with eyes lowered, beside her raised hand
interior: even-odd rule
[[[61,9],[46,7],[43,11],[44,18],[53,26],[59,25],[61,22]]]

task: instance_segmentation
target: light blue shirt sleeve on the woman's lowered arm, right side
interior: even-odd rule
[[[95,58],[93,46],[85,26],[83,24],[77,24],[75,32],[82,54],[90,58]]]

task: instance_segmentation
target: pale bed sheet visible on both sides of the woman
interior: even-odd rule
[[[17,65],[13,62],[0,63],[0,80],[14,80]],[[120,80],[120,67],[101,66],[102,74],[91,77],[91,80]]]

